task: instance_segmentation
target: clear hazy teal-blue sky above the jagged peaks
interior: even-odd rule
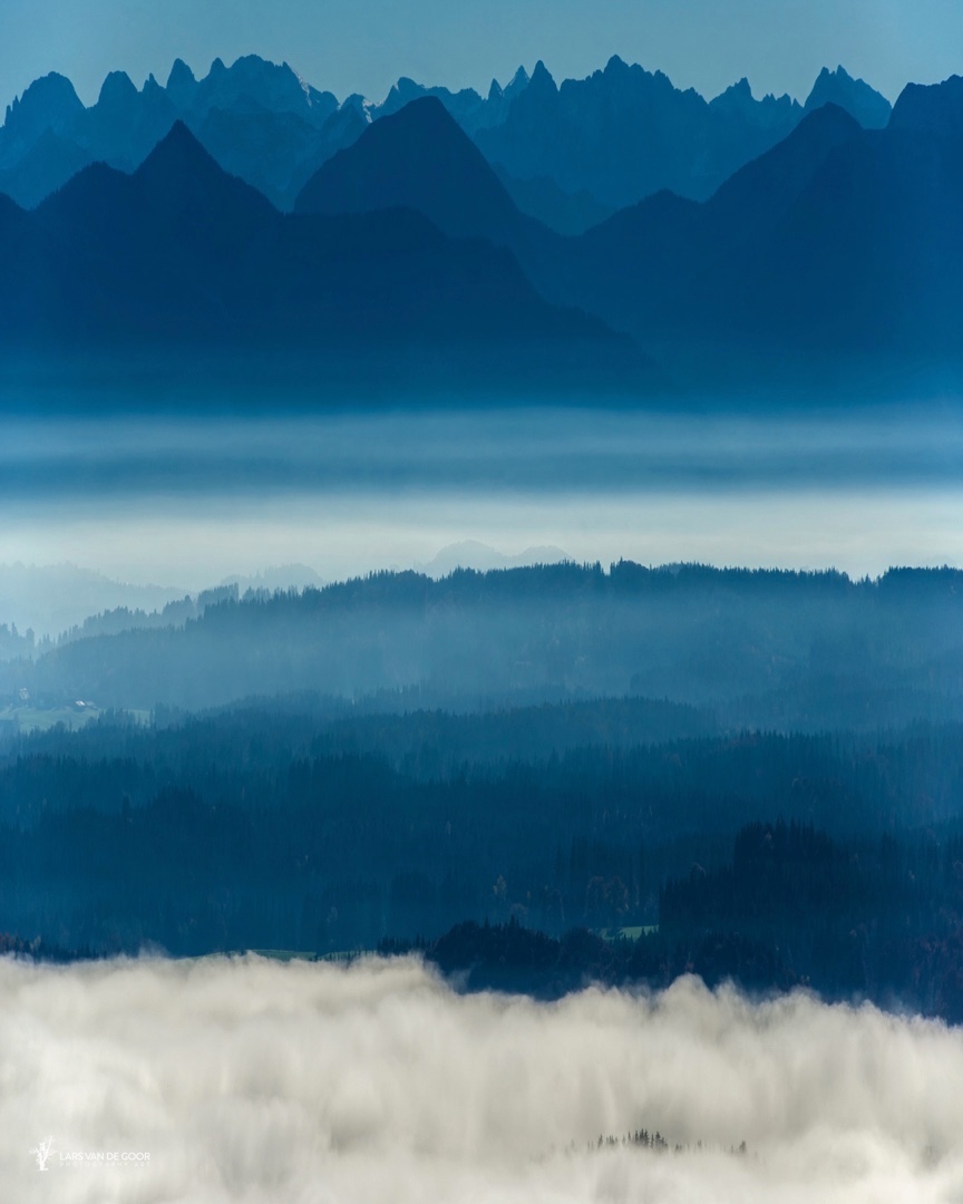
[[[400,76],[503,83],[544,59],[556,78],[618,53],[705,95],[748,76],[804,98],[841,63],[891,99],[963,67],[959,0],[0,0],[0,96],[60,71],[82,99],[125,70],[164,82],[172,60],[206,73],[258,53],[339,98],[380,99]]]

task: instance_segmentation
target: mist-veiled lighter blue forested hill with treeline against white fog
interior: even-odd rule
[[[8,700],[150,709],[317,690],[643,695],[790,728],[946,719],[963,702],[963,573],[561,563],[442,580],[377,573],[248,595],[183,626],[77,639],[0,666]]]

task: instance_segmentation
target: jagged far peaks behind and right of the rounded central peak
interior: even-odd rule
[[[539,61],[531,78],[520,69],[504,90],[492,82],[486,99],[472,89],[450,93],[400,79],[366,112],[377,120],[426,95],[478,142],[525,212],[566,234],[575,232],[572,209],[563,206],[556,219],[544,197],[549,183],[562,196],[586,196],[581,203],[601,211],[661,189],[702,200],[823,104],[838,105],[867,128],[885,125],[890,113],[884,96],[843,67],[823,69],[805,108],[787,95],[756,100],[746,79],[707,104],[618,55],[604,71],[561,87]],[[540,190],[526,194],[530,181],[540,182]]]

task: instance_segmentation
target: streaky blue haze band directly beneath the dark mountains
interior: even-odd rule
[[[963,412],[596,409],[302,419],[4,419],[5,497],[507,488],[628,491],[963,480]]]

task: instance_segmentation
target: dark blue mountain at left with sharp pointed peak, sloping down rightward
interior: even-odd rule
[[[597,320],[543,301],[508,250],[397,208],[284,217],[181,122],[132,175],[94,164],[33,214],[6,202],[0,241],[14,346],[625,353]]]

